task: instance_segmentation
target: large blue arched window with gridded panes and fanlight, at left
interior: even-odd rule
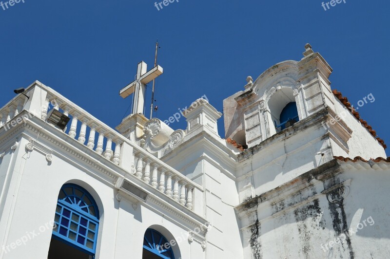
[[[94,256],[98,217],[98,206],[88,191],[74,184],[63,185],[58,196],[53,238]]]

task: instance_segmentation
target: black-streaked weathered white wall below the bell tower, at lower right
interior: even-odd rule
[[[237,206],[244,258],[388,258],[390,164],[379,165],[333,160]]]

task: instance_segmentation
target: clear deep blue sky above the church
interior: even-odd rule
[[[327,11],[322,0],[179,0],[159,11],[154,3],[0,7],[1,106],[14,89],[39,80],[115,127],[131,102],[118,91],[133,81],[139,61],[153,67],[158,39],[164,74],[156,81],[156,117],[165,120],[204,94],[222,111],[222,100],[242,90],[248,75],[300,60],[309,42],[333,68],[332,89],[355,106],[372,93],[375,101],[359,113],[390,144],[388,1],[346,0]],[[185,129],[185,119],[171,126]],[[224,137],[223,118],[218,127]]]

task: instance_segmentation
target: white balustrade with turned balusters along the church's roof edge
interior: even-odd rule
[[[67,134],[79,144],[95,150],[98,155],[123,168],[130,173],[126,175],[127,178],[134,174],[136,178],[133,181],[138,178],[140,183],[156,189],[166,199],[194,210],[194,200],[197,198],[195,193],[203,195],[200,185],[39,82],[27,88],[26,94],[30,96],[28,101],[25,96],[18,95],[0,109],[0,129],[23,109],[43,120],[46,120],[51,109],[59,110],[71,117]],[[61,134],[66,134],[65,132]],[[198,199],[203,200],[202,197]]]

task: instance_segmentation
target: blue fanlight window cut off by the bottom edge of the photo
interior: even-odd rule
[[[160,232],[148,228],[143,237],[142,259],[175,259],[170,241]]]

